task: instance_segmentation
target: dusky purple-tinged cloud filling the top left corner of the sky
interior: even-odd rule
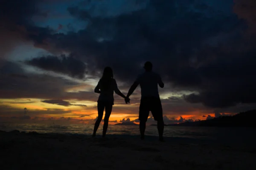
[[[38,0],[0,1],[0,58],[5,57],[15,46],[28,40],[28,29],[34,26],[34,16],[46,17],[37,7]]]

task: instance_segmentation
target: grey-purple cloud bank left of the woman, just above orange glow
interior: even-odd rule
[[[27,78],[12,77],[12,74],[23,74]],[[83,100],[97,101],[93,92],[66,92],[66,89],[79,83],[50,74],[34,74],[25,72],[18,63],[3,61],[0,65],[0,94],[1,98],[41,98],[45,100]],[[34,101],[12,101],[11,104],[29,104]],[[74,104],[76,105],[76,104]],[[85,105],[80,105],[85,107]]]

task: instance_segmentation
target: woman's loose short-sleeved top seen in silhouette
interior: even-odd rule
[[[107,80],[108,81],[108,80]],[[106,84],[107,83],[107,84]],[[94,91],[100,90],[100,95],[98,101],[107,101],[107,102],[114,102],[114,91],[116,93],[119,92],[119,89],[116,84],[116,80],[111,78],[110,82],[106,82],[102,78],[99,80],[97,86],[95,87]]]

